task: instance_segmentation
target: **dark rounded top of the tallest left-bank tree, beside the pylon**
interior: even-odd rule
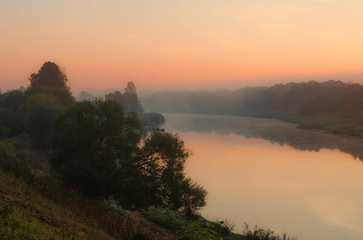
[[[40,70],[38,70],[38,73],[30,74],[29,81],[29,87],[48,86],[51,88],[67,88],[66,83],[68,79],[56,63],[45,62]]]

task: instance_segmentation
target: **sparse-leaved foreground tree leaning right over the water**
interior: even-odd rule
[[[149,133],[135,156],[137,177],[133,184],[139,182],[139,189],[129,189],[127,195],[117,195],[117,199],[125,206],[167,206],[181,210],[189,217],[197,215],[206,204],[208,192],[185,177],[185,160],[191,154],[178,134]]]

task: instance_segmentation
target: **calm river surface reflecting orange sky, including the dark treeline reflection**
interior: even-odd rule
[[[363,140],[280,120],[165,113],[194,155],[187,175],[208,190],[202,215],[299,240],[363,239]]]

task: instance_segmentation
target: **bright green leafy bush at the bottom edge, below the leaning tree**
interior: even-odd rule
[[[215,231],[212,231],[212,224],[206,225],[207,227],[203,228],[197,221],[189,222],[187,227],[183,226],[181,230],[176,231],[176,235],[181,237],[181,240],[222,240]]]

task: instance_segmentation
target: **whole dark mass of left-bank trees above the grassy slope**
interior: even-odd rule
[[[130,208],[163,206],[192,216],[205,206],[207,191],[184,173],[191,155],[184,142],[171,132],[145,134],[143,117],[155,123],[164,117],[144,112],[133,82],[123,94],[92,102],[85,91],[80,96],[89,100],[75,101],[53,62],[29,82],[25,91],[0,94],[0,137],[26,135],[50,150],[53,171],[66,186]]]

